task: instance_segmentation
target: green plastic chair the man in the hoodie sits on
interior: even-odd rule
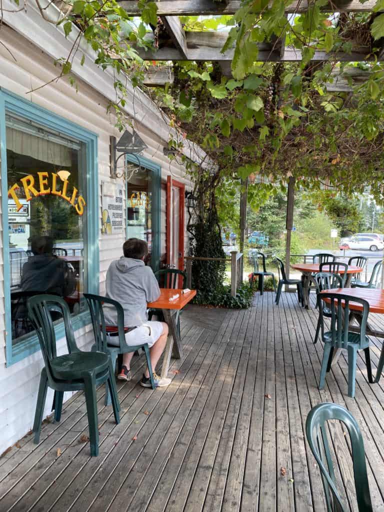
[[[95,345],[91,350],[97,350],[98,352],[104,352],[109,354],[112,359],[112,368],[115,371],[116,359],[118,354],[125,354],[127,352],[136,352],[139,349],[144,350],[146,364],[148,366],[148,372],[150,373],[152,389],[155,389],[155,380],[153,378],[153,371],[151,365],[150,348],[147,343],[140,345],[127,345],[125,343],[125,332],[127,329],[124,328],[124,310],[121,304],[114,301],[112,298],[102,297],[93,293],[84,293],[89,310],[91,312],[93,334],[95,336]],[[111,304],[116,308],[117,312],[117,326],[107,326],[105,324],[103,304]],[[111,330],[111,327],[113,329]],[[109,335],[116,335],[119,339],[119,346],[108,345],[108,338],[106,333]],[[105,389],[105,404],[108,405],[111,402],[111,396],[108,389]]]

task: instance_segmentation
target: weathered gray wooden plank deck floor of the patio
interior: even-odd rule
[[[181,512],[325,510],[318,469],[304,435],[308,411],[333,401],[357,419],[365,440],[374,510],[384,510],[384,378],[369,385],[358,358],[356,397],[347,396],[342,355],[317,389],[322,344],[316,312],[283,293],[255,295],[249,310],[189,307],[182,315],[184,356],[172,360],[168,388],[119,383],[121,423],[98,390],[100,455],[89,457],[83,395],[65,404],[0,458],[1,512]],[[384,319],[376,325],[384,330]],[[381,342],[372,340],[375,368]],[[22,411],[20,411],[22,414]],[[330,425],[336,472],[356,510],[348,440]],[[341,476],[342,475],[342,476]]]

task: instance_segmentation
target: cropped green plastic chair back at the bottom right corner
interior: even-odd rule
[[[327,437],[328,420],[342,421],[346,426],[352,446],[353,475],[359,512],[373,512],[364,441],[352,414],[336,403],[320,403],[308,414],[306,436],[308,444],[322,474],[328,512],[344,512],[342,500],[336,488],[335,472]],[[348,452],[348,450],[346,450]]]

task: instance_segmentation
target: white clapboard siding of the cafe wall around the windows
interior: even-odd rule
[[[44,22],[41,22],[44,23]],[[52,80],[58,72],[52,59],[44,52],[35,48],[30,42],[20,36],[16,31],[6,26],[2,27],[2,41],[15,56],[16,61],[9,52],[0,46],[0,87],[9,90],[23,98],[27,98],[47,110],[54,112],[91,130],[98,135],[98,196],[99,225],[101,218],[101,181],[123,183],[110,178],[110,136],[118,139],[120,133],[114,127],[114,118],[106,113],[108,101],[102,91],[95,91],[86,86],[81,80],[77,81],[78,90],[71,87],[68,79],[64,78],[53,82],[37,91],[30,93],[33,88],[39,87]],[[155,109],[155,107],[154,107]],[[163,147],[167,140],[162,140],[154,132],[143,129],[140,124],[140,103],[136,106],[137,122],[135,128],[147,144],[144,156],[162,168],[162,179],[172,173],[175,179],[187,185],[182,166],[172,162],[163,154]],[[165,215],[165,205],[162,205]],[[124,208],[125,215],[125,208]],[[162,219],[162,226],[164,219]],[[0,210],[0,246],[3,247],[4,230]],[[100,255],[100,293],[105,289],[105,274],[111,261],[120,257],[121,246],[125,238],[125,231],[117,236],[101,235],[99,231]],[[5,312],[4,312],[4,270],[3,254],[0,249],[0,454],[11,444],[22,438],[32,427],[39,375],[43,365],[40,352],[36,352],[16,364],[5,365]],[[80,348],[89,349],[93,343],[92,326],[88,325],[76,332],[76,340]],[[58,351],[65,351],[65,340],[58,340]],[[65,395],[67,399],[71,394]],[[52,392],[48,394],[45,415],[51,410]],[[22,411],[22,413],[21,413]]]

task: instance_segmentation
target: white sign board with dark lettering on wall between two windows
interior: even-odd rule
[[[121,233],[123,226],[124,188],[115,183],[102,183],[102,224],[103,234]]]

